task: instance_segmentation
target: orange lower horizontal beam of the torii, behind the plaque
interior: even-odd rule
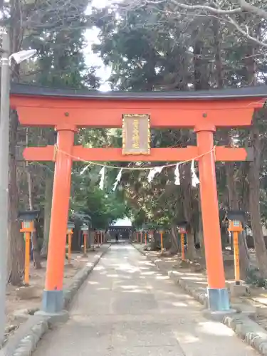
[[[23,152],[26,161],[53,161],[56,147],[27,147]],[[197,146],[187,148],[152,148],[150,155],[122,155],[121,148],[87,148],[73,146],[71,155],[73,161],[90,162],[181,162],[189,161],[199,156]],[[214,149],[216,161],[237,162],[251,161],[251,149],[218,146]],[[196,161],[199,159],[196,158]]]

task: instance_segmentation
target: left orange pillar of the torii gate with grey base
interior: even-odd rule
[[[58,140],[53,182],[53,202],[49,231],[46,284],[43,291],[43,312],[54,314],[63,310],[63,277],[66,254],[66,231],[70,201],[73,127],[56,127]]]

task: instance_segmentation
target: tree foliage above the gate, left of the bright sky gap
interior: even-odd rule
[[[37,61],[21,66],[20,80],[54,88],[98,88],[96,68],[85,66],[83,56],[88,1],[37,0],[20,5],[21,46],[37,50]],[[9,11],[12,5],[7,5]],[[6,21],[12,26],[12,16]]]

